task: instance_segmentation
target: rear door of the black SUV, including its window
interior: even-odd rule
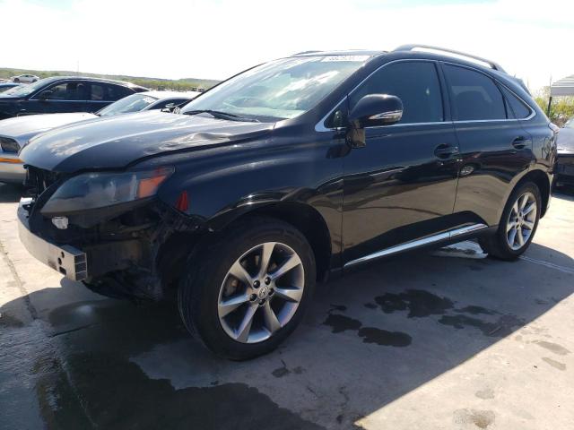
[[[533,159],[531,136],[491,76],[458,64],[442,67],[462,159],[455,212],[496,225],[513,179]]]

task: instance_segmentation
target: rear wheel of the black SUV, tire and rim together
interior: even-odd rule
[[[526,199],[526,202],[523,199]],[[533,209],[535,214],[533,215],[532,211],[529,211],[523,216],[522,212],[527,211],[532,202],[535,202]],[[519,216],[517,216],[517,208],[520,212]],[[479,238],[479,244],[483,251],[500,260],[516,260],[532,242],[536,228],[538,228],[541,210],[542,198],[538,186],[533,182],[518,185],[509,196],[496,232],[491,236]],[[512,226],[515,227],[512,228]],[[526,234],[527,236],[525,236]]]

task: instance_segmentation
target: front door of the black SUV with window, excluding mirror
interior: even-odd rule
[[[451,227],[457,190],[457,137],[433,61],[385,64],[349,96],[403,101],[396,125],[365,129],[366,146],[344,159],[344,262]]]

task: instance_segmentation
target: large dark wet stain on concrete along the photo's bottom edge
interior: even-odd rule
[[[66,370],[74,390],[82,393],[86,418],[98,428],[322,428],[244,383],[176,390],[169,381],[149,379],[139,366],[111,354],[73,355]],[[88,428],[64,426],[67,408],[60,404],[60,391],[53,394],[53,423]]]

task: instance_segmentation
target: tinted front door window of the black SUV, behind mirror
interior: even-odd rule
[[[412,61],[388,64],[351,96],[351,106],[369,94],[390,94],[403,101],[399,124],[444,121],[439,76],[431,62]]]

